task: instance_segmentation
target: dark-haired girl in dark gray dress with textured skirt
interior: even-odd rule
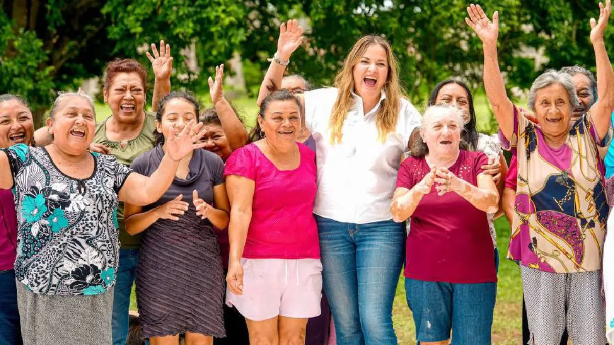
[[[131,168],[152,174],[171,128],[181,131],[197,116],[192,96],[166,96],[157,114],[159,143],[136,158]],[[142,335],[153,338],[152,343],[179,333],[185,333],[188,342],[225,336],[222,259],[212,228],[225,228],[229,220],[223,168],[215,153],[194,150],[179,163],[173,184],[160,200],[142,209],[126,205],[126,231],[147,230],[139,252],[136,296]]]

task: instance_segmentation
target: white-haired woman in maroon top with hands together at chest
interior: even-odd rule
[[[497,274],[486,213],[499,193],[482,152],[461,150],[462,112],[432,106],[422,116],[420,152],[401,163],[391,211],[411,217],[405,290],[419,342],[490,344]]]

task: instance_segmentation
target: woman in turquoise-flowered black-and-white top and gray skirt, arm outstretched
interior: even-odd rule
[[[51,144],[0,149],[0,188],[13,189],[17,206],[15,277],[24,344],[111,344],[117,203],[158,200],[179,161],[204,145],[193,144],[203,134],[194,122],[178,135],[171,131],[160,166],[146,177],[88,151],[95,118],[89,96],[64,93],[47,119]]]

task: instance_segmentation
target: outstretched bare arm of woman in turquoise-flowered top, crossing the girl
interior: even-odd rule
[[[130,174],[119,191],[119,200],[134,206],[146,206],[155,203],[168,187],[173,183],[179,161],[192,150],[200,149],[204,142],[194,144],[204,131],[199,131],[202,123],[195,125],[191,120],[178,136],[175,136],[174,128],[166,141],[166,153],[152,176]]]

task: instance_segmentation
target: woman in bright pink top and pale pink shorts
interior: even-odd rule
[[[304,339],[318,316],[322,264],[313,217],[316,155],[295,142],[301,103],[275,91],[260,107],[260,140],[226,162],[231,203],[227,303],[246,318],[250,343]]]

